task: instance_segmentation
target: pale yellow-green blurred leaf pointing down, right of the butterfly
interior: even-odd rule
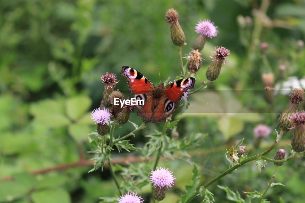
[[[217,121],[217,126],[226,140],[232,135],[240,133],[243,129],[243,123],[241,120],[228,116],[219,119]]]

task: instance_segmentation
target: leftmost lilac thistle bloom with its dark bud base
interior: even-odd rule
[[[109,110],[106,108],[98,108],[91,112],[91,119],[97,123],[97,132],[105,135],[108,132],[107,122],[110,120]]]

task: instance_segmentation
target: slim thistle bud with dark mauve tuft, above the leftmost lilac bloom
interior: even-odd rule
[[[102,83],[105,84],[104,93],[103,93],[103,105],[107,108],[111,106],[111,104],[108,101],[109,95],[113,92],[113,87],[115,87],[115,84],[118,83],[116,79],[116,75],[113,73],[106,72],[101,77]]]

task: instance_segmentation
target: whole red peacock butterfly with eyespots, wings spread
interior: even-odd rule
[[[164,87],[161,83],[157,87],[139,71],[123,66],[121,76],[125,77],[128,89],[136,100],[144,100],[143,105],[136,105],[137,116],[152,123],[165,122],[174,112],[176,102],[180,101],[184,92],[194,89],[195,78],[188,77],[177,80]]]

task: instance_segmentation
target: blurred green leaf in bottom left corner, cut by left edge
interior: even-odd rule
[[[26,195],[30,191],[27,184],[16,181],[0,182],[0,202],[13,201]]]

